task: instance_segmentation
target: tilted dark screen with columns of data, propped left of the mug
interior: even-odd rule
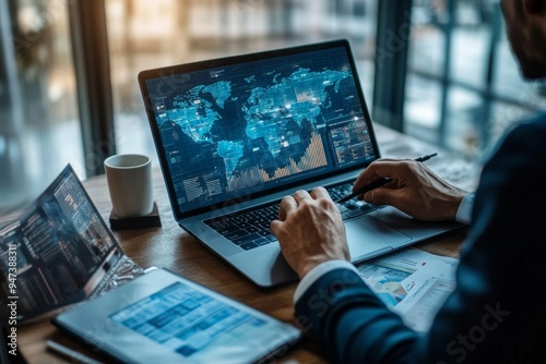
[[[0,291],[8,293],[0,301],[17,298],[23,319],[80,301],[119,252],[68,165],[17,221],[0,229]]]

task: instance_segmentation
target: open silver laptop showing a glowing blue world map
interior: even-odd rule
[[[269,226],[283,196],[336,201],[380,157],[346,39],[139,73],[176,221],[260,287],[297,278]],[[461,225],[340,205],[353,263]]]

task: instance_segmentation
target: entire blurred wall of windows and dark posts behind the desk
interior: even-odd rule
[[[349,39],[373,121],[482,162],[512,123],[546,110],[498,0],[0,0],[0,211],[67,165],[156,158],[140,71]]]

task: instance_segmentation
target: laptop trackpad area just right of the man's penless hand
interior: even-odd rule
[[[347,221],[345,230],[353,263],[384,254],[391,251],[392,246],[412,241],[412,238],[371,217]]]

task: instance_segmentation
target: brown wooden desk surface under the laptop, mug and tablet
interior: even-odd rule
[[[475,166],[380,125],[376,125],[376,129],[384,157],[414,158],[438,151],[439,157],[427,161],[427,166],[454,184],[468,190],[474,187],[478,173]],[[84,181],[84,185],[100,215],[108,221],[111,205],[105,177],[88,179]],[[163,226],[152,229],[115,231],[114,235],[126,254],[142,267],[168,268],[283,321],[294,323],[293,293],[296,282],[273,289],[261,289],[252,284],[178,227],[170,210],[162,173],[157,168],[154,170],[154,187]],[[418,244],[417,247],[434,254],[456,257],[464,236],[465,231],[458,231],[441,239]],[[20,325],[17,332],[19,350],[29,363],[69,363],[46,349],[47,339],[54,339],[88,356],[106,361],[104,356],[61,333],[48,320],[28,326]],[[289,350],[278,361],[324,362],[309,340]]]

